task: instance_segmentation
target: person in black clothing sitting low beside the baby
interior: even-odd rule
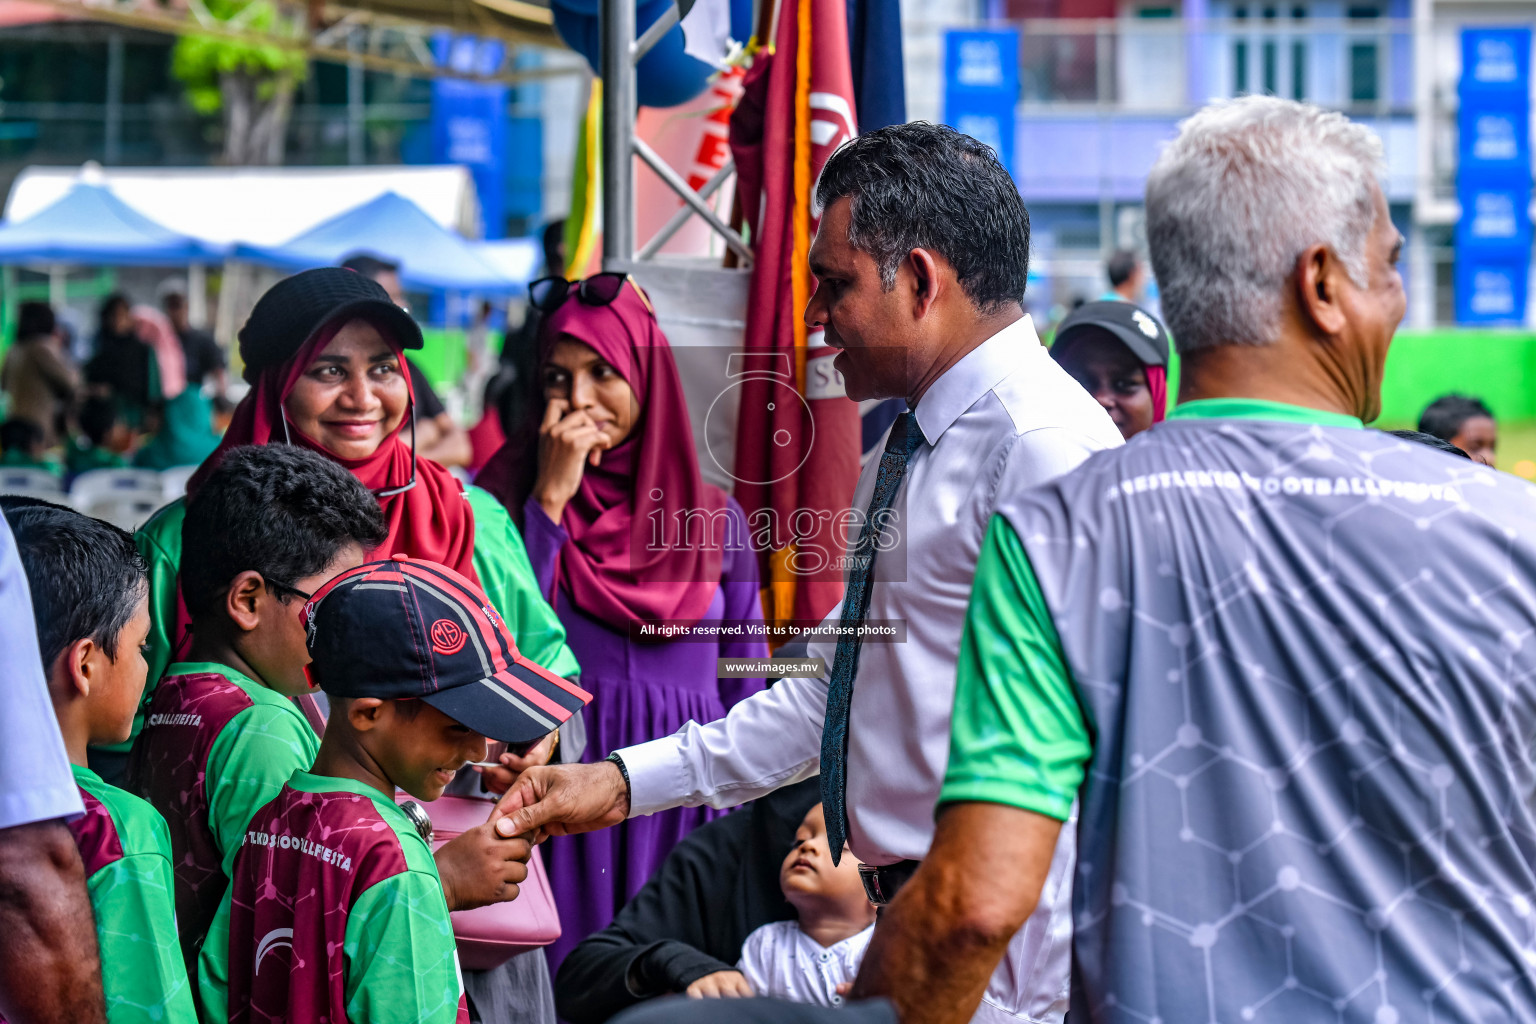
[[[820,783],[806,778],[690,832],[613,924],[565,956],[554,976],[561,1019],[604,1024],[642,999],[702,996],[739,975],[746,936],[794,918],[779,851],[820,798]]]

